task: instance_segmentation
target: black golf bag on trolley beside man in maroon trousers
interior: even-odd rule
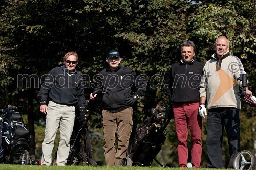
[[[128,151],[128,157],[123,158],[122,166],[150,166],[155,160],[160,166],[163,164],[156,159],[157,154],[162,149],[166,135],[167,125],[173,118],[173,109],[159,106],[151,108],[151,117],[147,124],[138,125],[137,134]],[[175,167],[173,163],[167,163],[165,167]]]

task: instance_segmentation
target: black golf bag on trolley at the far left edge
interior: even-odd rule
[[[16,106],[2,109],[0,117],[0,163],[11,157],[14,164],[39,165],[34,155],[29,155],[30,132]]]

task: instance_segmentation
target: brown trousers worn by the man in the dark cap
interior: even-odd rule
[[[127,157],[129,138],[133,127],[133,109],[129,107],[117,113],[102,111],[104,155],[107,165],[120,166],[123,158]],[[116,150],[117,132],[117,150]]]

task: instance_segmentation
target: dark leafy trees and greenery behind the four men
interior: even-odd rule
[[[146,120],[150,108],[169,105],[161,82],[166,71],[180,60],[180,45],[187,40],[194,41],[196,60],[206,62],[214,53],[214,42],[220,35],[229,38],[230,52],[241,59],[249,80],[248,87],[255,95],[255,8],[254,0],[2,0],[0,106],[6,108],[12,104],[19,107],[32,135],[30,154],[40,159],[45,119],[39,113],[40,81],[30,79],[30,87],[17,88],[20,83],[18,74],[37,75],[40,80],[50,69],[62,64],[64,54],[76,51],[78,70],[90,76],[86,89],[88,97],[92,92],[93,76],[105,66],[106,53],[116,49],[124,66],[149,78],[159,75],[134,107],[134,124],[137,125]],[[93,125],[90,131],[94,157],[104,161],[100,111],[99,106],[90,121]],[[254,153],[255,119],[255,108],[243,103],[241,149]],[[202,167],[205,167],[205,119],[203,123]],[[168,129],[175,132],[173,120]],[[177,165],[176,140],[175,133],[168,134],[158,154],[161,162]],[[225,167],[229,159],[226,138],[223,153]]]

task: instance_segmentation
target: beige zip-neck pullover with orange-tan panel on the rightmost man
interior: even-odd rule
[[[216,53],[204,66],[204,75],[200,83],[200,97],[207,98],[207,108],[233,107],[240,109],[238,96],[240,74],[246,74],[240,59],[227,52],[220,60]]]

